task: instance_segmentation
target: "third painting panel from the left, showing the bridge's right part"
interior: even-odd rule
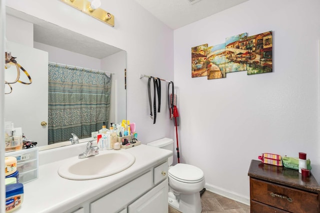
[[[246,49],[247,33],[225,38],[225,72],[246,70],[248,53]]]

